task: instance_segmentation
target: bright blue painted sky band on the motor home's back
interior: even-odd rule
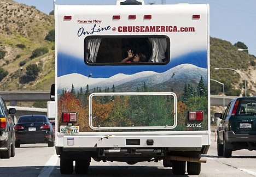
[[[183,56],[173,58],[166,65],[86,65],[83,59],[74,58],[72,56],[67,56],[66,54],[58,54],[58,74],[57,76],[63,76],[72,73],[82,74],[84,76],[89,76],[90,73],[94,73],[93,78],[107,78],[114,76],[119,73],[126,75],[132,75],[141,71],[155,71],[155,72],[165,72],[174,66],[178,66],[184,63],[193,64],[200,68],[207,68],[207,53],[206,51],[197,51],[194,53],[184,54]],[[72,66],[72,67],[71,67]],[[101,71],[101,72],[97,72]]]

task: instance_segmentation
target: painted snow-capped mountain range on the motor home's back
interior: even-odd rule
[[[162,91],[170,91],[173,88],[183,87],[184,84],[196,85],[201,77],[206,84],[207,69],[191,64],[178,65],[161,73],[142,71],[133,75],[117,74],[109,78],[91,78],[74,73],[58,77],[58,91],[62,89],[70,91],[72,84],[75,90],[79,90],[81,87],[86,90],[88,85],[90,90],[94,88],[111,89],[114,86],[116,91],[136,91],[137,88],[146,84],[149,88],[156,87],[163,89]]]

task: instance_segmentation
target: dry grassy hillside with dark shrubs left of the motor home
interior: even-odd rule
[[[49,90],[54,83],[54,42],[45,36],[54,29],[54,16],[10,0],[2,0],[0,9],[0,89]],[[43,49],[45,54],[40,53]],[[27,74],[27,67],[33,75]]]

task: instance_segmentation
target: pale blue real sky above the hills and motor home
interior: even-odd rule
[[[33,5],[45,14],[53,10],[53,0],[15,0]],[[56,4],[115,4],[116,0],[56,0]],[[210,36],[234,45],[243,42],[256,56],[256,0],[144,0],[145,4],[210,4]]]

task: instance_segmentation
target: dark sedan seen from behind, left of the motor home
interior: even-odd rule
[[[16,148],[20,144],[48,143],[54,147],[54,129],[46,115],[22,115],[15,125]]]

